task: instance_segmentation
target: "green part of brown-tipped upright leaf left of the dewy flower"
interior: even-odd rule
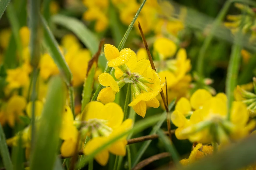
[[[93,84],[94,84],[94,75],[96,72],[97,65],[93,64],[92,68],[89,70],[88,77],[85,78],[84,88],[82,93],[82,106],[81,111],[83,111],[84,107],[90,102],[91,96],[93,93]]]

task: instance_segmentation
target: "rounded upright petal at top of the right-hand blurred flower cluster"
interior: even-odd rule
[[[205,89],[199,89],[191,96],[190,103],[194,109],[198,109],[210,98],[212,98],[212,94],[210,92]]]

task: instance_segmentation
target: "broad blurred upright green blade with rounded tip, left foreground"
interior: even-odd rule
[[[53,169],[59,145],[61,115],[66,99],[66,86],[59,77],[50,80],[34,149],[30,158],[31,170]]]

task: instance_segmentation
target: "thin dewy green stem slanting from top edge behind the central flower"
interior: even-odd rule
[[[139,14],[140,14],[140,12],[141,12],[143,6],[145,5],[145,3],[146,3],[146,0],[144,0],[144,1],[142,2],[141,6],[139,7],[138,11],[136,12],[135,16],[133,17],[133,20],[131,21],[130,25],[128,26],[128,29],[127,29],[127,31],[126,31],[124,37],[122,38],[122,40],[121,40],[119,46],[117,47],[117,49],[118,49],[119,51],[120,51],[121,49],[123,49],[123,47],[124,47],[124,45],[125,45],[125,42],[126,42],[126,40],[127,40],[127,38],[128,38],[128,35],[130,34],[131,29],[132,29],[132,27],[133,27],[135,21],[137,20],[137,18],[138,18],[138,16],[139,16]],[[106,69],[106,71],[105,71],[105,73],[110,73],[111,70],[112,70],[112,67],[109,67],[109,66],[108,66],[107,69]],[[92,101],[96,101],[96,100],[97,100],[97,97],[98,97],[99,92],[101,91],[102,87],[103,87],[103,86],[102,86],[101,84],[99,84],[99,86],[98,86],[97,89],[96,89],[96,92],[94,93],[94,96],[93,96]]]

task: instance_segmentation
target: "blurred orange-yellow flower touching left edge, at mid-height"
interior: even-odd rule
[[[8,122],[10,127],[14,127],[15,120],[19,116],[24,115],[23,110],[26,107],[26,99],[22,96],[12,96],[6,105],[2,106],[0,110],[0,123],[3,126]]]

